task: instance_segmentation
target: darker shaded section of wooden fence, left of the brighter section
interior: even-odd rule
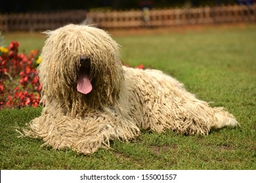
[[[80,24],[85,19],[85,10],[0,14],[0,31],[45,31],[69,23]]]

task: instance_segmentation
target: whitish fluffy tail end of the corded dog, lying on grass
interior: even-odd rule
[[[236,121],[234,116],[226,112],[222,107],[213,108],[215,111],[215,121],[211,125],[211,129],[219,129],[224,126],[237,127],[240,124]]]

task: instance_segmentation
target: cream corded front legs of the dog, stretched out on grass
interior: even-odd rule
[[[54,149],[72,148],[91,154],[98,148],[110,148],[110,141],[129,141],[140,133],[136,125],[119,113],[95,112],[84,117],[70,117],[44,110],[28,124],[26,136],[41,138]]]

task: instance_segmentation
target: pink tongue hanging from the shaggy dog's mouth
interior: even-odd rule
[[[93,90],[93,86],[89,80],[89,76],[85,74],[80,74],[77,83],[77,91],[83,94],[90,93]]]

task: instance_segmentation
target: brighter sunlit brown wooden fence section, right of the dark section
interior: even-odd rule
[[[89,12],[87,18],[106,29],[256,22],[256,4],[154,9],[148,13],[142,10]]]

